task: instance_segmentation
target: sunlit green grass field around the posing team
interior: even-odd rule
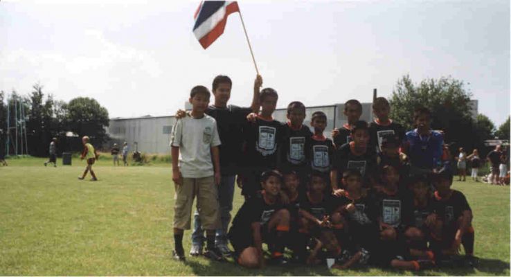
[[[60,159],[58,160],[61,161]],[[0,167],[0,275],[414,275],[411,271],[326,267],[248,270],[232,262],[172,251],[174,185],[170,164],[113,167],[102,159],[100,181],[79,181],[84,162],[43,166],[44,159],[9,159]],[[88,179],[89,177],[87,177]],[[474,211],[478,269],[433,269],[420,275],[510,275],[510,188],[455,182]],[[235,211],[242,204],[236,190]],[[234,212],[235,212],[234,211]],[[185,249],[190,249],[190,231]]]

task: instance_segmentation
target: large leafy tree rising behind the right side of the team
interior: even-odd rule
[[[445,131],[447,143],[472,149],[481,145],[476,138],[476,128],[471,114],[470,96],[465,83],[454,78],[442,77],[438,80],[422,80],[413,84],[409,75],[397,81],[391,99],[391,117],[406,129],[413,129],[413,111],[418,107],[427,107],[431,111],[433,129]]]

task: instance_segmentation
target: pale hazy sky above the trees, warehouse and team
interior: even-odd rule
[[[57,100],[95,98],[109,116],[166,116],[190,89],[233,80],[249,106],[255,68],[240,15],[204,50],[199,1],[0,1],[0,90],[33,84]],[[510,114],[509,1],[242,1],[263,87],[278,107],[391,96],[397,80],[451,76],[498,127]]]

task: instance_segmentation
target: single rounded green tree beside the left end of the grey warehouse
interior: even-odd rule
[[[89,136],[93,143],[107,141],[105,127],[109,125],[108,111],[93,98],[79,97],[66,105],[66,125],[78,136]]]

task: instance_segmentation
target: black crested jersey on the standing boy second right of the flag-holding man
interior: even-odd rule
[[[290,123],[284,124],[282,161],[284,167],[308,166],[310,160],[310,143],[312,132],[309,127],[302,125],[300,129],[293,129]]]

